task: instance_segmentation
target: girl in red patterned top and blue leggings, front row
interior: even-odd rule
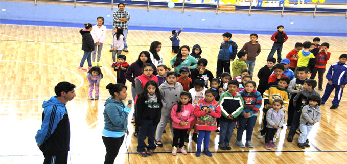
[[[211,131],[217,130],[216,118],[220,118],[221,111],[218,102],[215,100],[217,92],[212,89],[205,91],[205,99],[200,100],[194,108],[194,115],[196,116],[195,128],[199,130],[198,144],[195,156],[201,155],[202,140],[204,143],[203,153],[212,157],[209,151],[209,142]]]

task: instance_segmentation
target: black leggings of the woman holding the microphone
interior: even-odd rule
[[[102,140],[106,147],[106,155],[104,164],[113,164],[115,157],[118,155],[119,148],[121,147],[124,136],[120,138],[112,138],[112,137],[104,137],[102,136]]]

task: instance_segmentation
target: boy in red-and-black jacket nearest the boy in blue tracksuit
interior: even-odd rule
[[[318,72],[318,90],[323,90],[323,77],[324,73],[326,72],[326,64],[327,61],[330,58],[330,52],[328,52],[329,49],[329,43],[322,43],[320,46],[320,50],[318,52],[318,55],[315,56],[316,58],[316,65],[314,66],[312,70],[312,74],[310,79],[314,79],[316,77],[316,74]]]

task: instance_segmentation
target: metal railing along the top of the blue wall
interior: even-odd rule
[[[76,8],[76,0],[59,0],[59,1],[73,1],[74,2],[74,8]],[[146,1],[146,0],[144,0]],[[105,4],[109,4],[107,2],[90,2],[90,1],[78,1],[78,2],[83,2],[83,3],[105,3]],[[152,1],[153,2],[153,1]],[[155,2],[159,2],[159,1],[155,1]],[[35,6],[37,6],[37,0],[34,0],[34,4]],[[216,15],[218,15],[218,9],[220,9],[220,5],[219,5],[219,1],[217,1],[217,4],[216,4],[216,7],[191,7],[191,6],[185,6],[186,4],[186,1],[183,0],[183,2],[181,3],[182,6],[182,14],[184,13],[184,8],[204,8],[204,9],[215,9],[216,10]],[[190,4],[196,4],[196,3],[190,3]],[[331,4],[334,4],[334,3],[331,3]],[[114,6],[114,3],[113,3],[113,0],[111,0],[111,10],[113,10],[113,6]],[[145,6],[145,4],[127,4],[127,5],[142,5],[142,6]],[[225,4],[225,5],[228,5],[228,4]],[[150,4],[150,0],[147,0],[147,12],[150,11],[149,7],[150,6],[165,6],[165,5],[151,5]],[[282,10],[266,10],[266,9],[252,9],[252,6],[253,6],[253,1],[250,1],[250,4],[249,4],[249,9],[235,9],[235,10],[243,10],[243,11],[246,11],[248,10],[248,16],[251,16],[251,11],[273,11],[273,12],[281,12],[281,17],[283,17],[284,15],[284,12],[285,12],[285,6],[283,5],[282,6]],[[314,11],[313,11],[313,18],[316,17],[316,13],[344,13],[344,12],[334,12],[334,11],[317,11],[317,7],[318,7],[318,2],[316,2],[315,4],[315,7],[314,7]],[[178,7],[176,7],[178,8]],[[312,9],[312,8],[311,8]],[[347,9],[347,8],[346,8]],[[296,10],[286,10],[286,12],[302,12],[302,13],[308,13],[308,12],[312,12],[312,11],[296,11]],[[345,14],[345,19],[347,19],[347,12]]]

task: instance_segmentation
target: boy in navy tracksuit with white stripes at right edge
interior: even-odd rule
[[[347,54],[342,54],[339,57],[339,62],[334,63],[330,66],[329,71],[326,75],[328,79],[327,86],[324,91],[324,95],[321,98],[321,104],[325,104],[328,100],[331,92],[335,88],[335,97],[332,102],[330,109],[336,109],[339,106],[342,98],[343,88],[347,83]]]

